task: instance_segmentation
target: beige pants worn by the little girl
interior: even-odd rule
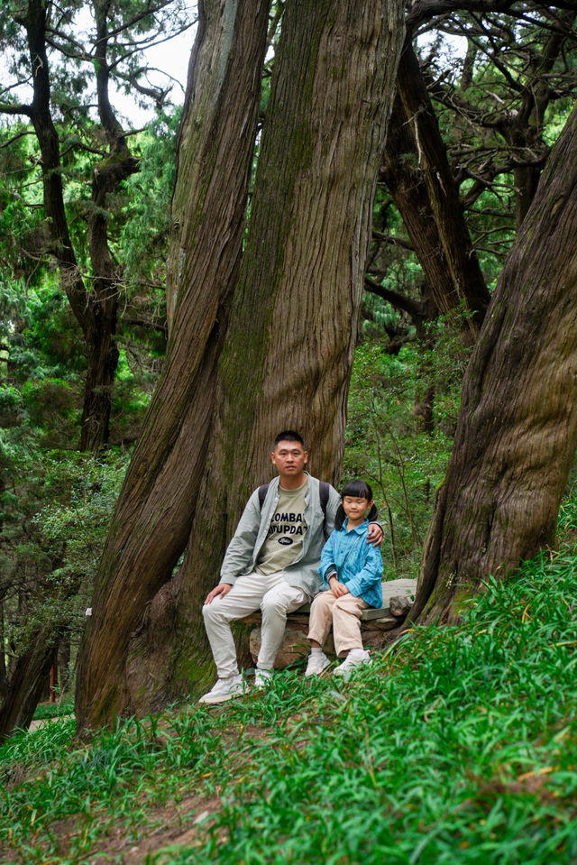
[[[355,598],[353,594],[343,594],[340,598],[335,598],[332,592],[317,594],[310,608],[308,640],[324,646],[333,625],[337,658],[351,649],[362,649],[361,613],[367,607],[366,601]]]

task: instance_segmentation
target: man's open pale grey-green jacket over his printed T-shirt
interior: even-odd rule
[[[341,503],[341,497],[334,487],[329,485],[326,514],[323,513],[319,494],[319,482],[316,477],[308,476],[308,487],[305,495],[305,522],[307,532],[303,538],[300,555],[284,569],[285,579],[289,585],[298,586],[311,598],[323,588],[318,574],[321,550],[326,538],[334,529],[334,515]],[[264,502],[259,501],[258,489],[252,493],[243,516],[234,532],[226,553],[223,566],[220,569],[221,583],[234,584],[237,577],[252,574],[261,552],[261,547],[269,532],[270,520],[279,502],[279,478],[275,477],[269,483]]]

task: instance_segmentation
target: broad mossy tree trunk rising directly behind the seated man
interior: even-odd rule
[[[193,688],[206,686],[212,660],[200,621],[202,600],[218,580],[247,493],[270,476],[268,455],[279,428],[303,429],[313,471],[327,478],[338,474],[372,198],[402,30],[396,2],[286,5],[249,233],[215,372],[206,353],[211,374],[205,382],[215,408],[209,414],[196,391],[192,404],[204,404],[205,411],[186,431],[196,437],[213,419],[205,470],[188,504],[188,513],[192,502],[197,509],[187,555],[178,579],[154,600],[149,595],[148,621],[131,647],[130,701],[122,665],[110,675],[106,658],[101,664],[87,641],[78,699],[82,722],[101,722],[103,712],[110,716],[127,707],[157,708],[188,691],[191,680]],[[190,216],[194,220],[194,211]],[[179,311],[177,304],[174,339],[186,324]],[[175,466],[170,483],[187,481],[182,474],[182,465]],[[109,620],[142,576],[129,567],[125,575],[117,588],[109,572],[98,594]],[[99,645],[113,644],[122,661],[126,630],[105,630]]]

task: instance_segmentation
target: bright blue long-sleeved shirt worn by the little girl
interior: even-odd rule
[[[367,544],[369,520],[347,531],[348,520],[342,529],[334,529],[323,547],[318,573],[327,583],[326,574],[336,570],[340,583],[351,594],[362,598],[371,607],[382,606],[382,558],[380,550]]]

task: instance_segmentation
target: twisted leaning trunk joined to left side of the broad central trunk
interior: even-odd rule
[[[127,705],[129,635],[186,547],[242,253],[269,4],[205,0],[198,11],[172,207],[176,324],[96,578],[78,667],[80,724]]]

